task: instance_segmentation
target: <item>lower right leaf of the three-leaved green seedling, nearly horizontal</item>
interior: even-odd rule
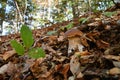
[[[29,57],[38,59],[40,57],[45,57],[45,52],[42,48],[32,48],[28,52]]]

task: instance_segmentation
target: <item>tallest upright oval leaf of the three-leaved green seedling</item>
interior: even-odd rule
[[[29,27],[23,25],[20,30],[20,35],[25,47],[27,49],[30,48],[34,43],[34,39],[33,39],[32,31],[29,29]]]

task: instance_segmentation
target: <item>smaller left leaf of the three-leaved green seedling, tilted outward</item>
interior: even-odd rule
[[[18,55],[23,55],[25,50],[22,44],[18,43],[16,40],[11,40],[11,46],[15,49]]]

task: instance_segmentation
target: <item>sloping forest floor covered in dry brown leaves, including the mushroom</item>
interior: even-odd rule
[[[44,58],[16,54],[10,40],[21,42],[19,33],[0,37],[0,80],[120,80],[120,9],[86,13],[33,35]]]

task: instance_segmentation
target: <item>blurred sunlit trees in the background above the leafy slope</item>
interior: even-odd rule
[[[113,0],[0,0],[0,32],[18,32],[22,24],[42,28],[112,5]]]

